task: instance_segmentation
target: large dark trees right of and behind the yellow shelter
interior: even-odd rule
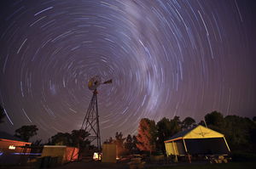
[[[256,152],[256,123],[247,117],[237,115],[223,116],[213,111],[205,116],[207,126],[224,133],[231,151],[241,149],[244,152]]]

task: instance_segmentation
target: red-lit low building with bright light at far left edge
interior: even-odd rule
[[[7,132],[0,132],[0,165],[15,165],[26,162],[31,143],[22,141]]]

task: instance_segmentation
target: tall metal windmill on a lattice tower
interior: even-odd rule
[[[84,121],[81,129],[84,129],[86,132],[90,133],[88,137],[90,142],[96,140],[96,146],[98,152],[101,151],[101,133],[100,133],[100,124],[99,124],[99,113],[98,113],[98,103],[97,103],[97,87],[102,84],[112,83],[112,79],[102,82],[100,76],[93,76],[90,78],[88,82],[88,87],[91,91],[93,91],[92,98],[90,99],[90,104],[86,115],[84,117]]]

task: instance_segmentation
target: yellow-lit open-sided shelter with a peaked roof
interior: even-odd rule
[[[165,141],[166,155],[227,155],[230,153],[229,145],[224,134],[213,131],[201,125],[192,127],[187,131],[178,132]]]

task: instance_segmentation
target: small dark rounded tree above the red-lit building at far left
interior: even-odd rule
[[[29,138],[37,135],[38,127],[36,125],[22,126],[15,130],[15,137],[21,138],[24,141],[28,141]]]

